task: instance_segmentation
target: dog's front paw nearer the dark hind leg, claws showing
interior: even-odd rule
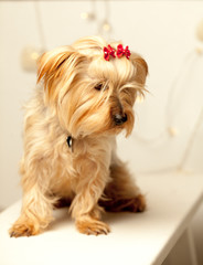
[[[76,227],[81,233],[87,235],[108,234],[110,232],[106,223],[97,220],[76,221]]]

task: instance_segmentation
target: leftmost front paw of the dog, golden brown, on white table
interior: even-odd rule
[[[31,223],[17,222],[9,230],[9,234],[11,237],[31,236],[36,235],[39,233],[40,233],[39,229],[36,229],[35,225]]]

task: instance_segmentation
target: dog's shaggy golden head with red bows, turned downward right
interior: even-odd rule
[[[132,130],[132,107],[145,92],[148,67],[140,55],[129,50],[125,54],[121,45],[119,54],[118,45],[84,38],[39,60],[45,104],[74,138]]]

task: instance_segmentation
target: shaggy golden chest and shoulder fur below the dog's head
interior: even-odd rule
[[[38,181],[42,187],[46,186],[50,193],[62,197],[76,193],[78,182],[83,186],[93,180],[95,172],[104,172],[103,178],[107,181],[116,148],[115,136],[73,139],[70,148],[66,141],[70,132],[61,126],[56,114],[42,102],[42,91],[36,89],[36,96],[26,107],[21,173],[38,162],[43,173],[38,168],[33,182]]]

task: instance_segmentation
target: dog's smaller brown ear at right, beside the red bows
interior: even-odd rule
[[[140,85],[145,85],[146,77],[148,75],[148,64],[146,61],[137,53],[132,53],[130,56],[130,61],[136,67],[137,74],[136,74],[136,82]]]

